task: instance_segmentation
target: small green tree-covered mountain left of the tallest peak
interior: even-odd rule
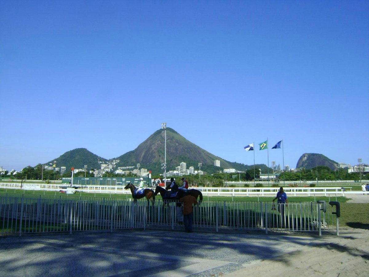
[[[88,169],[100,169],[101,163],[106,163],[107,159],[101,158],[98,155],[93,154],[92,152],[88,151],[86,148],[76,148],[74,150],[70,150],[65,152],[63,155],[59,156],[56,159],[53,159],[46,163],[54,164],[56,161],[56,167],[66,167],[67,170],[70,168],[84,168],[87,165]]]

